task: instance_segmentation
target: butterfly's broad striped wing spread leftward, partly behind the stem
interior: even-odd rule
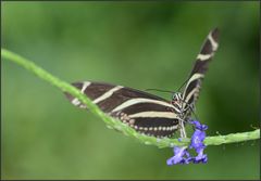
[[[171,137],[178,129],[175,109],[166,100],[122,86],[102,82],[72,83],[91,99],[104,113],[119,118],[138,132],[153,137]],[[87,108],[77,99],[65,93],[70,101]]]

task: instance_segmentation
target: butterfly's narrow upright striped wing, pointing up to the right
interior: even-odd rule
[[[195,103],[198,99],[201,82],[208,69],[209,62],[214,56],[214,53],[219,47],[217,38],[219,29],[215,28],[208,35],[208,38],[204,41],[201,51],[197,56],[194,68],[189,75],[189,79],[183,91],[183,100],[185,102],[184,109],[187,109],[185,117],[188,117],[191,114],[191,107],[195,106]]]

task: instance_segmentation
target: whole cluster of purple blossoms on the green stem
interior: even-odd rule
[[[203,150],[206,148],[206,145],[203,144],[203,140],[206,138],[204,131],[208,129],[208,126],[201,125],[197,120],[189,121],[189,124],[194,125],[195,132],[191,137],[191,142],[188,148],[195,148],[198,155],[196,157],[190,157],[186,146],[183,146],[183,147],[175,146],[174,156],[166,160],[166,164],[169,166],[176,165],[176,164],[189,164],[189,163],[206,164],[208,161],[207,154],[203,154]]]

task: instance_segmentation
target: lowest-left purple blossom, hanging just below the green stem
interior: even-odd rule
[[[190,156],[189,153],[187,152],[187,147],[174,146],[173,151],[174,156],[166,160],[166,165],[172,166],[176,164],[189,164],[188,158]],[[188,158],[186,158],[185,156],[187,156]]]

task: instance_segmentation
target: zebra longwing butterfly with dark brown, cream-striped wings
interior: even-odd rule
[[[217,49],[217,28],[210,31],[182,92],[172,101],[136,89],[104,82],[83,81],[72,85],[85,93],[104,113],[117,118],[140,133],[172,137],[177,130],[186,137],[184,124],[189,120],[198,99],[208,64]],[[87,108],[78,99],[65,93],[72,104]]]

